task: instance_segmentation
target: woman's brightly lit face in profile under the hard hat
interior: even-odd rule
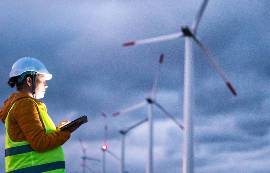
[[[45,80],[45,74],[39,74],[36,76],[36,99],[42,99],[45,94],[45,90],[48,85]]]

